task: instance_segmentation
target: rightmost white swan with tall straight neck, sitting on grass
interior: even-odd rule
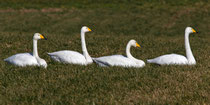
[[[159,65],[195,65],[196,61],[195,58],[192,54],[191,48],[190,48],[190,43],[189,43],[189,35],[190,33],[196,33],[196,31],[191,28],[187,27],[185,29],[185,49],[186,49],[186,55],[187,58],[183,55],[178,55],[178,54],[167,54],[167,55],[162,55],[154,59],[149,59],[147,60],[148,63],[156,63]]]

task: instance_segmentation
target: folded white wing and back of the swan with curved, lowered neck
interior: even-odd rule
[[[100,66],[122,66],[122,67],[137,67],[134,60],[131,60],[123,55],[104,56],[93,59]]]

